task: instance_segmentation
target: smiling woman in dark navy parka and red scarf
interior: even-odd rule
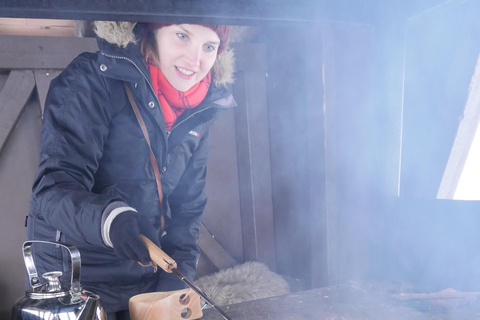
[[[99,52],[81,54],[50,86],[27,236],[76,246],[81,283],[100,295],[111,320],[128,317],[133,295],[184,288],[142,266],[150,258],[139,234],[194,278],[209,124],[235,106],[225,88],[233,56],[226,26],[97,22],[95,29]],[[148,131],[160,195],[125,84]],[[63,270],[68,281],[68,258],[51,247],[38,246],[37,266]]]

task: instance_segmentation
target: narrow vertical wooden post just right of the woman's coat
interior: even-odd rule
[[[237,75],[234,92],[245,261],[276,270],[265,72]]]

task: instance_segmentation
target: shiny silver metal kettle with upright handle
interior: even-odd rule
[[[71,282],[65,288],[60,283],[60,271],[42,274],[47,280],[40,281],[32,256],[32,244],[42,243],[61,246],[71,257]],[[12,309],[12,320],[106,320],[99,296],[82,290],[80,285],[80,252],[77,248],[48,241],[27,241],[23,244],[23,258],[27,268],[30,288]]]

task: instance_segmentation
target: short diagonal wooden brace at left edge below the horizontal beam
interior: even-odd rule
[[[13,70],[0,92],[0,152],[20,119],[29,100],[35,79],[29,70]]]

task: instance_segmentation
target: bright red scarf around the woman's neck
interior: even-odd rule
[[[152,61],[147,62],[150,78],[152,79],[153,90],[157,94],[162,108],[163,117],[167,130],[172,129],[175,120],[186,110],[195,108],[202,102],[210,87],[210,72],[199,83],[195,84],[186,92],[175,89],[168,83],[160,68]]]

